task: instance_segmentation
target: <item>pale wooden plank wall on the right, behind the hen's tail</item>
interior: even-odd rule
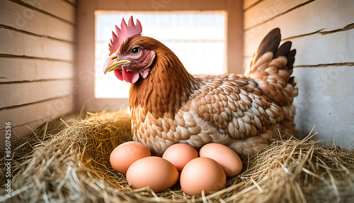
[[[316,124],[316,139],[343,147],[354,142],[353,11],[352,0],[244,0],[244,69],[262,38],[279,27],[297,49],[299,136]]]

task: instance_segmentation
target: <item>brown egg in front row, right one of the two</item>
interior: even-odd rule
[[[226,183],[226,175],[221,165],[211,158],[195,158],[185,165],[180,183],[183,192],[192,195],[210,194],[221,190]]]

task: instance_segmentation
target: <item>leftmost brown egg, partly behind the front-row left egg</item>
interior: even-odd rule
[[[110,153],[110,165],[118,172],[125,174],[132,163],[150,155],[149,148],[143,143],[126,142]]]

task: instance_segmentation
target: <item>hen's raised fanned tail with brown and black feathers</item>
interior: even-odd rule
[[[292,97],[294,97],[288,95],[288,92],[292,90],[289,90],[290,87],[287,87],[287,84],[292,84],[292,87],[295,87],[296,84],[295,79],[290,77],[296,50],[291,50],[292,43],[290,41],[280,45],[280,40],[279,28],[270,31],[253,55],[251,67],[246,70],[245,75],[256,79],[263,94],[282,106],[290,104]],[[289,74],[285,74],[284,70]]]

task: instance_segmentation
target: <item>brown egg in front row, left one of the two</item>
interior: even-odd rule
[[[178,171],[168,160],[150,156],[133,163],[127,170],[127,182],[134,188],[150,186],[162,192],[178,181]]]

